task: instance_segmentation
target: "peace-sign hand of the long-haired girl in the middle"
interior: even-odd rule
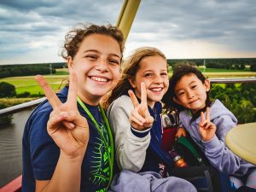
[[[152,126],[154,119],[148,111],[147,90],[145,84],[143,82],[141,84],[141,103],[137,101],[137,97],[132,90],[129,90],[128,93],[134,106],[129,117],[131,126],[137,130],[148,129]]]

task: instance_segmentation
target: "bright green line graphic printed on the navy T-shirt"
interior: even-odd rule
[[[104,126],[100,126],[103,135],[108,142],[108,132]],[[108,185],[108,179],[110,175],[110,167],[108,164],[108,151],[104,146],[101,137],[96,137],[95,148],[92,152],[92,161],[91,161],[91,177],[89,178],[91,183],[96,185],[106,184]],[[100,189],[98,192],[105,191],[106,189]]]

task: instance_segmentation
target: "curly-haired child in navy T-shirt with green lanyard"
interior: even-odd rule
[[[26,122],[23,192],[108,189],[113,137],[99,102],[119,81],[123,45],[122,32],[114,26],[74,28],[62,52],[69,86],[56,96],[43,77],[36,78],[48,101]]]

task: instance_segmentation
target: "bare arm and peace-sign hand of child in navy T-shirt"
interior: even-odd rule
[[[77,107],[76,75],[71,71],[65,103],[61,103],[43,77],[38,76],[37,80],[54,109],[49,115],[47,132],[60,148],[60,156],[50,180],[36,180],[36,191],[79,191],[81,165],[89,140],[89,129],[87,120],[81,116]]]

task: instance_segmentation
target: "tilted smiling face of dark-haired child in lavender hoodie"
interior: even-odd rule
[[[203,84],[195,74],[184,75],[175,85],[174,91],[177,97],[174,101],[196,113],[206,107],[207,91],[210,90],[208,79]]]

